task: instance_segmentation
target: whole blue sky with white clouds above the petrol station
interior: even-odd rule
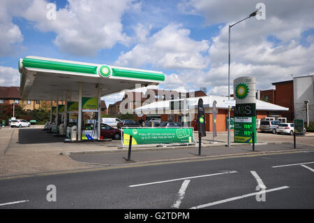
[[[313,0],[1,0],[0,86],[19,86],[27,56],[151,69],[159,89],[207,87],[227,95],[253,76],[257,89],[314,74]],[[145,91],[145,89],[140,89]],[[107,106],[124,92],[105,96]]]

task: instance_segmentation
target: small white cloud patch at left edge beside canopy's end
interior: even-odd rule
[[[0,66],[0,86],[20,86],[20,72],[8,66]]]

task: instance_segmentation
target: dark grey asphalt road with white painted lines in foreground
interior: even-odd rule
[[[314,208],[313,186],[304,151],[1,179],[0,208]]]

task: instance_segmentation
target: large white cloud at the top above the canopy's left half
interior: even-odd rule
[[[128,44],[121,15],[130,9],[130,0],[68,0],[65,8],[56,11],[54,19],[48,19],[47,1],[34,0],[23,17],[35,22],[40,31],[57,34],[53,43],[68,54],[94,56],[96,52],[110,49],[116,43]]]

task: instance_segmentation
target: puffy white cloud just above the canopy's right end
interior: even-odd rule
[[[169,24],[156,34],[146,37],[128,51],[122,52],[115,62],[120,66],[151,64],[164,69],[204,69],[208,59],[202,54],[209,49],[209,42],[189,38],[190,30],[181,24]]]

